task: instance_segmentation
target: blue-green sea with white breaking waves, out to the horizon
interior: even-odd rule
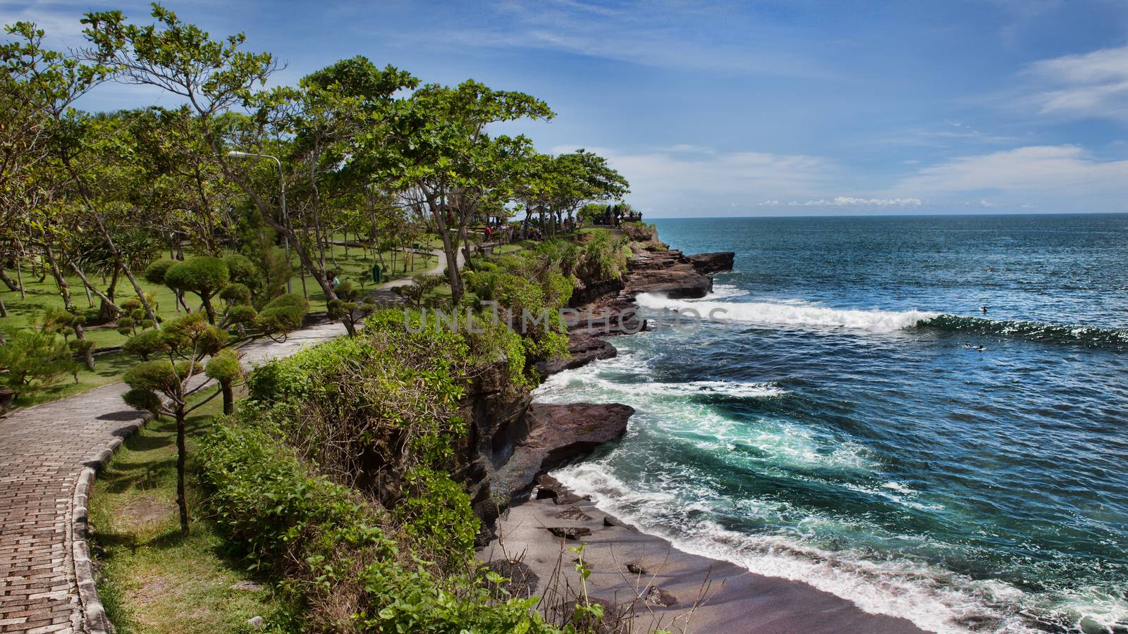
[[[1128,632],[1128,215],[658,224],[735,271],[640,303],[728,324],[552,377],[637,410],[563,481],[926,629]]]

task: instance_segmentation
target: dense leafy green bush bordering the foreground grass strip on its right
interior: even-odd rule
[[[413,561],[424,551],[411,535],[389,537],[386,511],[311,474],[280,434],[270,410],[221,421],[202,442],[201,477],[217,525],[254,567],[285,575],[280,588],[310,631],[557,632],[531,611],[535,600],[496,601],[473,573]]]

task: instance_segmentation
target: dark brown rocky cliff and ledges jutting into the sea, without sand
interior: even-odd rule
[[[582,290],[573,294],[575,301],[570,306],[582,314],[590,308],[615,319],[634,308],[638,293],[705,297],[713,288],[710,275],[732,268],[732,252],[685,256],[676,249],[655,248],[655,243],[656,236],[652,236],[651,250],[637,253],[620,280],[582,280]],[[627,329],[641,326],[635,322]],[[570,328],[570,355],[541,361],[536,370],[547,377],[615,356],[615,346],[602,338],[610,334],[615,333],[591,328],[581,319]],[[474,510],[483,520],[483,545],[493,536],[497,517],[511,504],[526,500],[540,476],[603,442],[622,438],[634,413],[617,403],[540,405],[531,400],[531,395],[509,385],[503,363],[475,378],[462,398],[468,432],[456,475],[467,484]]]

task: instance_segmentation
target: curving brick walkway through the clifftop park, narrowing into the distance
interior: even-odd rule
[[[256,342],[246,366],[344,334],[341,324]],[[0,632],[82,632],[71,522],[74,485],[105,460],[115,438],[144,415],[125,406],[124,384],[28,407],[0,421]]]

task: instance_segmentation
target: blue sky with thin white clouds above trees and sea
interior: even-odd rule
[[[474,78],[548,102],[518,123],[588,148],[651,217],[1128,211],[1128,2],[167,2],[247,34],[290,82],[362,54],[426,82]],[[89,9],[0,19],[80,41]],[[164,103],[105,86],[86,106]]]

